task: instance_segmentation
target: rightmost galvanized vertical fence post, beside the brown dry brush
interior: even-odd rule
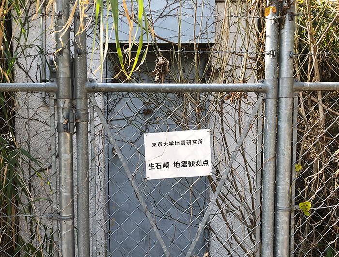
[[[280,29],[275,256],[289,256],[295,3],[284,0]]]

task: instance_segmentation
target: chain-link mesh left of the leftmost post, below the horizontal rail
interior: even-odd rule
[[[0,256],[54,256],[54,100],[40,92],[0,98]]]

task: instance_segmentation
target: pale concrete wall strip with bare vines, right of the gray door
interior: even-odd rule
[[[253,57],[253,55],[246,54],[246,52],[255,53],[257,51],[255,41],[253,41],[256,38],[255,31],[250,26],[252,19],[239,18],[239,16],[249,16],[248,8],[250,8],[250,4],[245,2],[225,1],[216,3],[216,39],[213,48],[220,52],[212,54],[211,57],[211,70],[212,73],[216,73],[216,76],[211,76],[213,83],[255,83],[258,81],[255,73],[253,73],[256,64],[248,58]],[[223,100],[224,104],[221,111],[223,117],[217,114],[220,112],[216,112],[216,117],[213,119],[218,121],[224,119],[224,126],[220,123],[214,124],[211,121],[213,151],[221,153],[219,158],[215,159],[216,163],[219,163],[216,165],[216,170],[219,172],[226,169],[230,158],[226,153],[226,145],[228,145],[228,151],[231,154],[236,145],[235,138],[240,136],[239,125],[245,126],[251,112],[251,106],[255,104],[257,98],[255,93],[237,93],[232,96],[224,96],[226,97]],[[244,96],[246,98],[242,98]],[[233,104],[233,102],[237,102],[236,99],[241,98],[242,100],[239,101],[238,105]],[[216,109],[220,108],[216,107]],[[240,118],[233,125],[235,117]],[[224,131],[228,132],[222,140]],[[230,203],[223,204],[219,199],[220,208],[216,206],[213,210],[214,213],[219,213],[219,215],[215,215],[210,221],[212,230],[217,233],[217,236],[211,233],[211,256],[252,256],[256,247],[258,247],[256,244],[259,245],[259,242],[254,241],[255,229],[253,228],[250,231],[251,228],[245,225],[245,223],[251,224],[256,220],[256,206],[254,205],[253,208],[252,203],[256,202],[256,190],[260,190],[255,183],[257,174],[256,135],[257,128],[253,126],[244,142],[245,152],[243,155],[238,154],[230,176],[225,182],[222,192],[231,199]],[[214,171],[215,174],[217,173],[216,170]],[[211,191],[210,197],[212,195],[213,192]],[[224,217],[220,214],[221,210],[225,213]]]

